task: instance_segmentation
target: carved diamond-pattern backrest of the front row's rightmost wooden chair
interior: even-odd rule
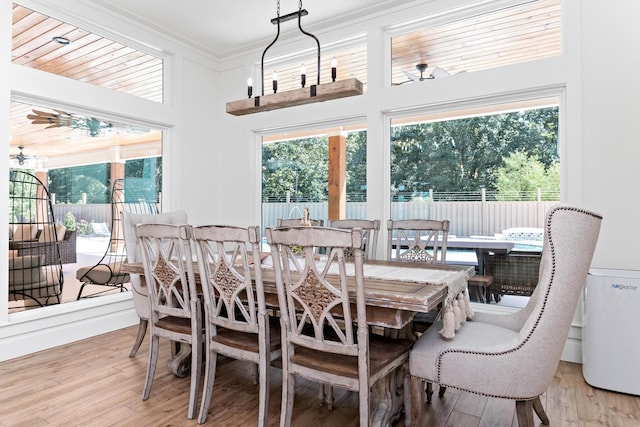
[[[285,330],[283,355],[294,346],[366,357],[368,327],[364,303],[362,231],[324,227],[267,228]],[[300,256],[295,248],[301,247]],[[316,248],[330,247],[326,260]],[[353,318],[344,252],[354,254],[357,319]],[[331,279],[327,274],[332,273]],[[351,289],[353,291],[353,289]],[[357,330],[354,321],[357,320]],[[357,339],[356,339],[357,335]],[[360,347],[359,347],[360,346]],[[363,353],[364,352],[364,353]],[[286,363],[286,361],[283,361]]]

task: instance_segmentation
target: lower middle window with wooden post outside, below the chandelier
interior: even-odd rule
[[[331,147],[344,144],[344,166]],[[333,203],[329,183],[344,177],[339,195],[344,218],[366,218],[367,133],[362,125],[318,129],[263,138],[262,225],[275,226],[279,218],[300,218],[309,208],[312,219],[327,221]],[[335,159],[335,160],[334,160]],[[333,162],[335,161],[335,165]],[[332,175],[333,174],[333,175]],[[330,176],[332,175],[332,176]]]

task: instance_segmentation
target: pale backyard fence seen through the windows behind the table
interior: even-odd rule
[[[392,219],[428,218],[451,221],[451,234],[458,237],[493,236],[512,227],[542,228],[544,217],[557,201],[533,202],[393,202]],[[327,221],[325,203],[263,203],[262,226],[275,226],[278,218],[300,218],[309,208],[312,219]],[[366,203],[347,203],[347,218],[373,219],[367,216]],[[382,219],[384,228],[386,218]]]

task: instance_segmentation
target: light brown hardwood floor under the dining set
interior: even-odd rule
[[[128,354],[136,327],[0,363],[0,426],[196,426],[188,420],[189,379],[164,369],[169,343],[161,341],[151,398],[141,399],[148,339],[135,358]],[[258,388],[246,363],[221,359],[206,425],[253,426]],[[280,370],[271,381],[269,425],[279,424]],[[357,426],[357,396],[335,390],[334,410],[317,403],[317,386],[296,382],[293,425]],[[561,362],[542,396],[552,426],[640,426],[640,397],[594,389],[581,365]],[[424,426],[517,426],[511,401],[447,390],[434,397]],[[536,426],[541,425],[535,418]],[[397,427],[403,427],[400,420]]]

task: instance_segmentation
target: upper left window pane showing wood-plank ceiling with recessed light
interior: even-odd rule
[[[12,62],[163,101],[162,59],[17,4],[13,5]]]

